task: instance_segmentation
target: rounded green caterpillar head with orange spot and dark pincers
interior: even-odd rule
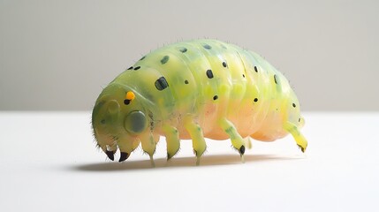
[[[117,148],[125,161],[140,144],[140,135],[148,132],[144,99],[130,87],[111,84],[99,95],[92,113],[92,126],[98,147],[114,160]]]

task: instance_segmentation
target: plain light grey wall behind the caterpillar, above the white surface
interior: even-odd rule
[[[378,1],[0,1],[0,110],[91,110],[142,55],[216,38],[290,79],[303,110],[379,110]]]

